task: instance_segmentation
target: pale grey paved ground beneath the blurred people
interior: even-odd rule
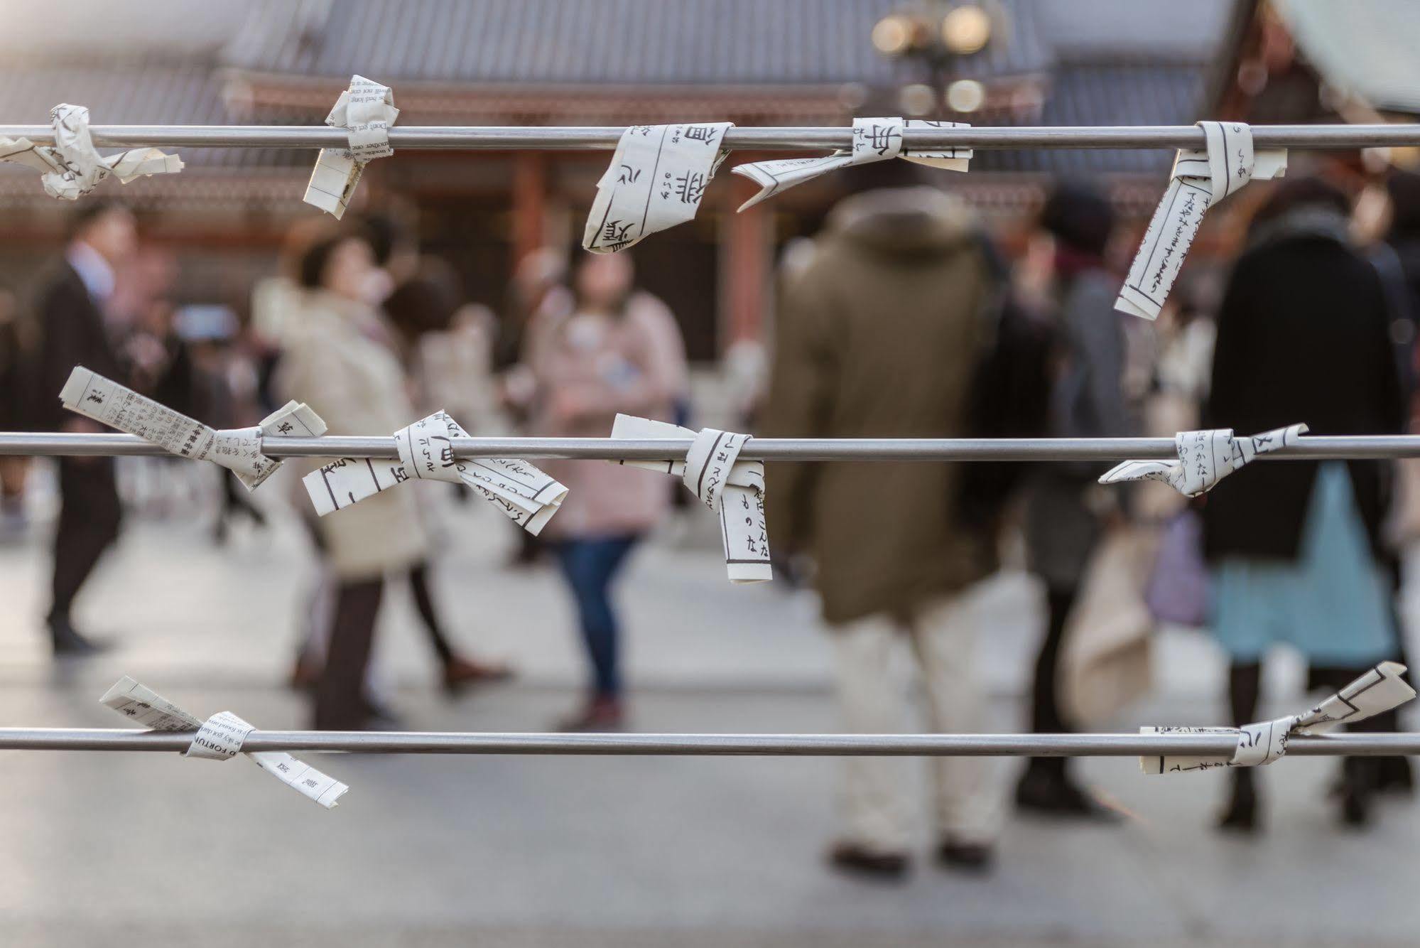
[[[301,590],[300,537],[243,533],[216,551],[203,524],[139,523],[85,603],[124,648],[54,667],[34,635],[44,556],[0,549],[0,723],[108,726],[97,696],[132,674],[199,713],[231,708],[304,725],[278,686]],[[504,524],[460,512],[440,588],[467,642],[523,677],[459,702],[396,601],[381,665],[409,728],[542,729],[579,677],[568,607],[545,571],[497,569]],[[834,729],[828,650],[812,605],[730,588],[714,550],[662,543],[626,583],[636,723],[648,731]],[[1001,731],[1034,598],[1018,576],[983,596]],[[1220,665],[1201,637],[1166,635],[1160,694],[1120,728],[1210,722]],[[1295,665],[1272,677],[1296,702]],[[1332,945],[1414,944],[1420,823],[1390,804],[1367,834],[1332,823],[1331,765],[1265,772],[1258,843],[1206,830],[1217,775],[1145,779],[1085,762],[1129,819],[1014,822],[988,878],[926,860],[903,885],[821,867],[835,762],[751,758],[355,758],[320,766],[354,789],[325,813],[244,762],[176,755],[0,755],[0,945]],[[1007,767],[1003,763],[1003,779]],[[905,779],[920,777],[905,763]],[[929,844],[923,839],[923,853]]]

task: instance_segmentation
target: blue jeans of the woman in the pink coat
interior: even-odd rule
[[[616,661],[619,635],[612,611],[611,586],[616,571],[640,540],[639,534],[578,537],[557,543],[562,576],[577,600],[582,641],[592,662],[592,688],[598,698],[621,695],[621,671]]]

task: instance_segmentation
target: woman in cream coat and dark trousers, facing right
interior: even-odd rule
[[[338,232],[300,254],[300,311],[284,321],[281,387],[314,408],[332,435],[395,432],[416,419],[390,333],[375,304],[388,287],[369,243]],[[320,517],[317,544],[335,577],[329,644],[315,695],[315,726],[359,729],[375,708],[365,692],[385,580],[408,576],[443,665],[444,685],[506,674],[454,652],[429,590],[429,536],[408,490],[386,490]]]

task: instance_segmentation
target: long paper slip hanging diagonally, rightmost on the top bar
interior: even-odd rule
[[[1179,277],[1203,213],[1250,181],[1287,173],[1287,149],[1252,151],[1252,129],[1242,122],[1198,122],[1207,151],[1180,151],[1115,308],[1157,320]]]

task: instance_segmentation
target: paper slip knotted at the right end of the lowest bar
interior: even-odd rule
[[[1231,758],[1139,758],[1145,773],[1183,773],[1213,767],[1254,767],[1272,763],[1287,753],[1292,735],[1325,733],[1342,723],[1355,723],[1399,708],[1416,696],[1416,689],[1402,681],[1406,667],[1380,662],[1306,713],[1260,721],[1242,728],[1140,728],[1139,733],[1231,733],[1237,749]]]

